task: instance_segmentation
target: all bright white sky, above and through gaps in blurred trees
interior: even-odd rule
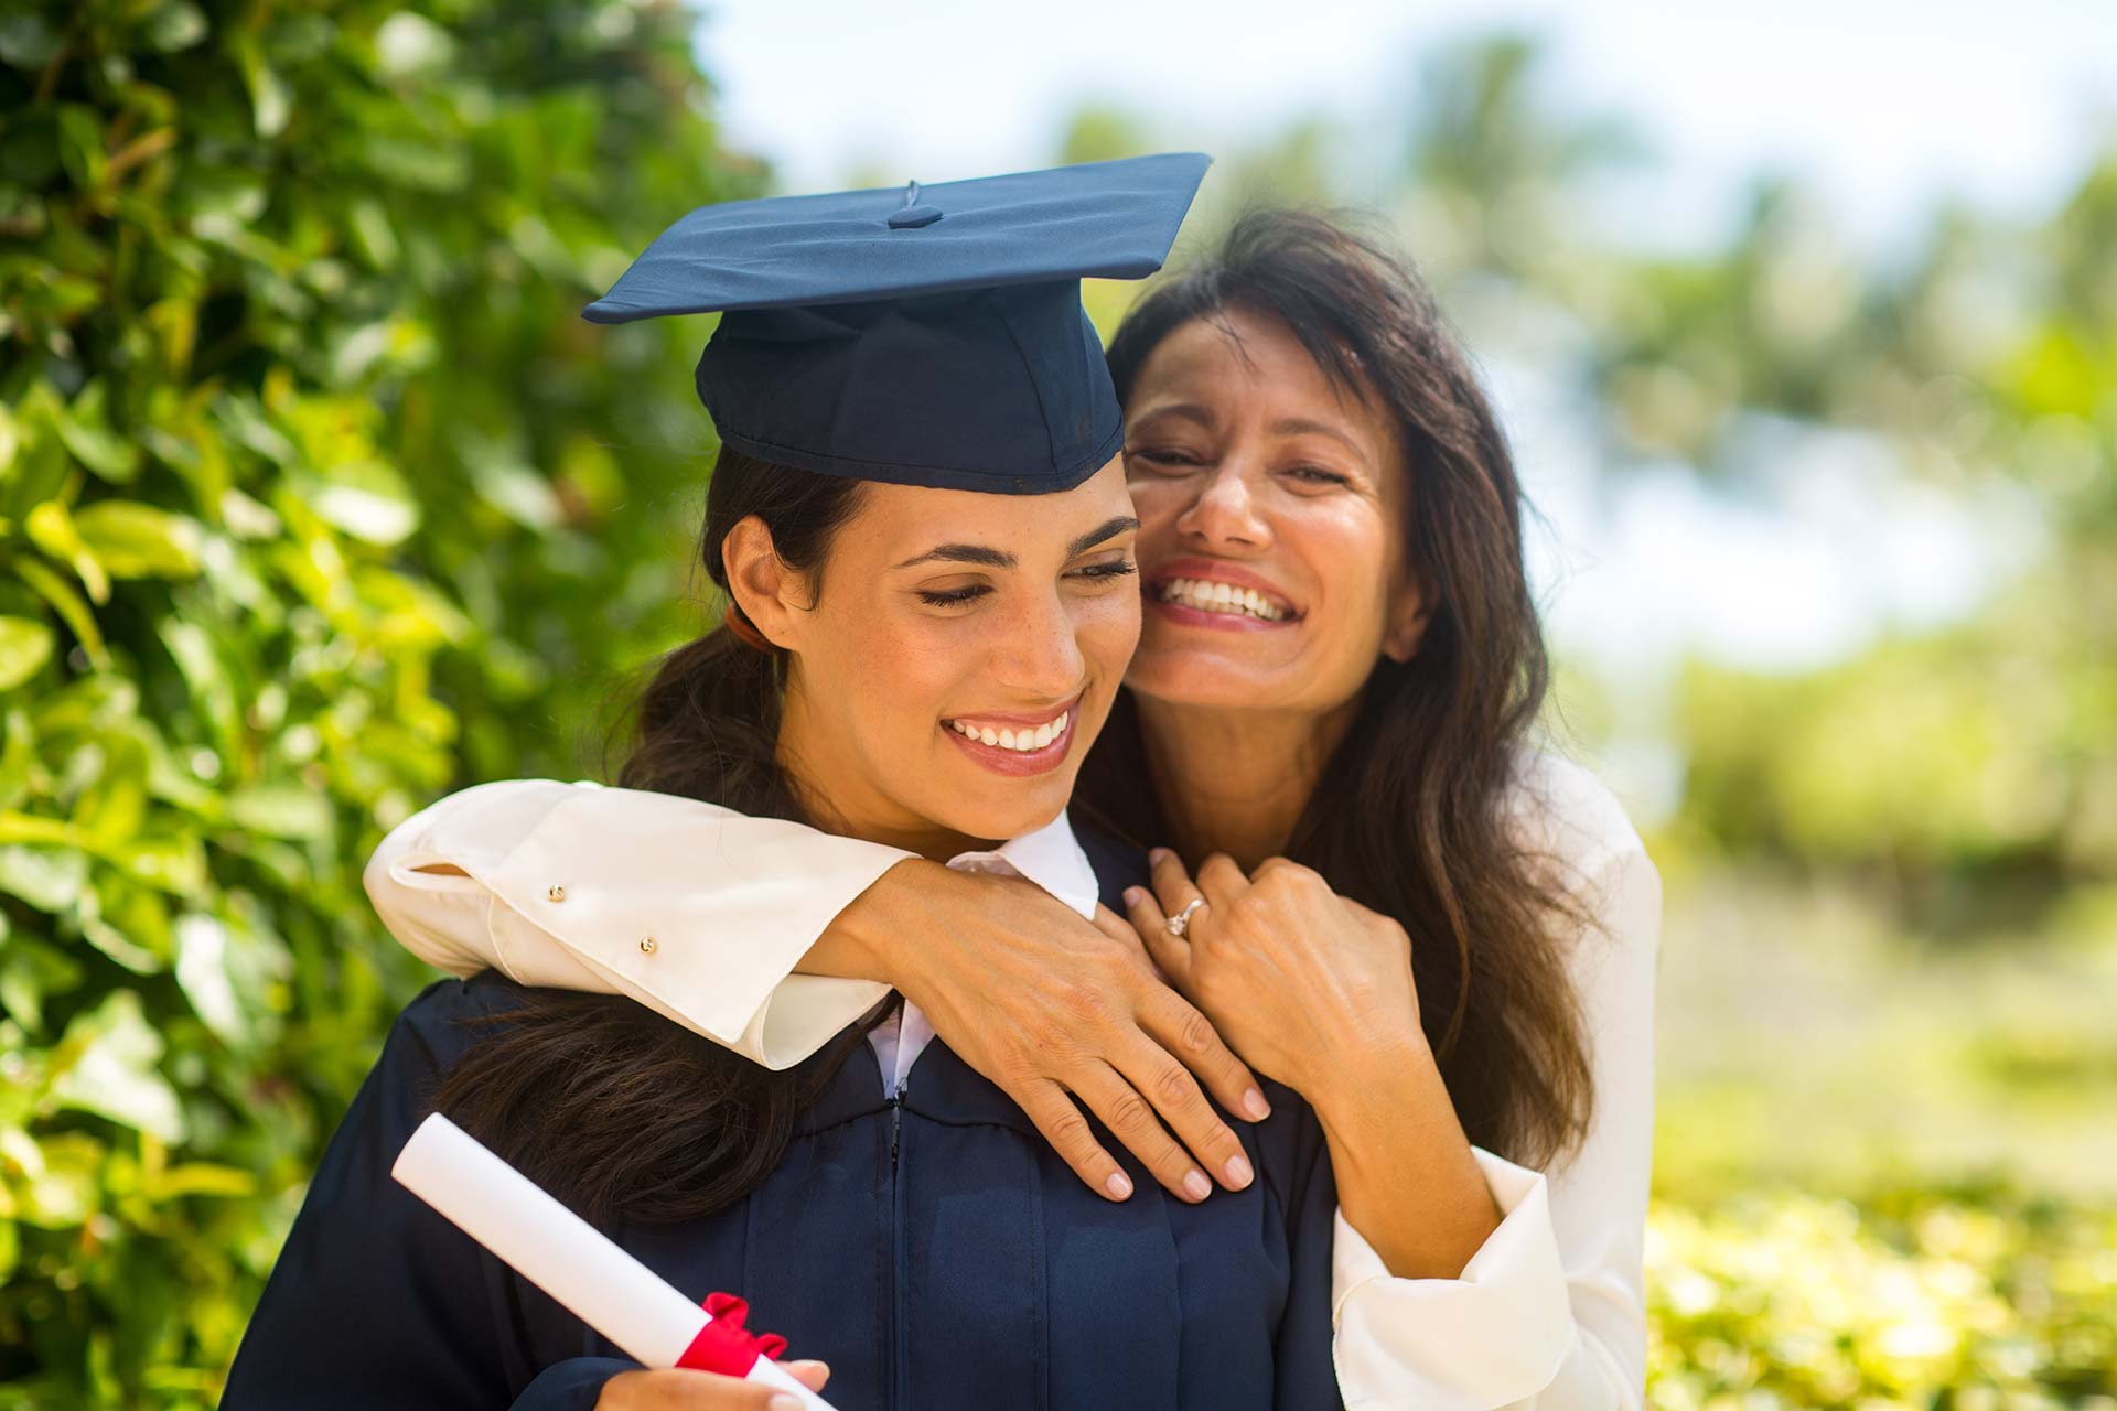
[[[1937,201],[2041,218],[2117,144],[2113,0],[720,0],[699,53],[728,142],[783,190],[1050,165],[1067,116],[1099,102],[1205,150],[1300,118],[1372,131],[1355,148],[1372,146],[1380,193],[1423,59],[1499,30],[1548,42],[1556,112],[1645,140],[1651,161],[1596,209],[1643,248],[1717,243],[1751,184],[1785,171],[1886,258]],[[1840,434],[1787,434],[1766,503],[1683,468],[1613,489],[1537,368],[1488,374],[1545,516],[1533,569],[1552,637],[1641,685],[1647,717],[1687,654],[1821,666],[1975,609],[2034,556],[2024,506],[1920,491]]]

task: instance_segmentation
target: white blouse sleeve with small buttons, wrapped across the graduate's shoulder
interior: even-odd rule
[[[627,994],[790,1068],[889,992],[794,967],[906,857],[671,793],[508,778],[404,819],[362,882],[390,933],[449,973]]]

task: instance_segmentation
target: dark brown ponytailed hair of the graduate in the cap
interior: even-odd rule
[[[857,480],[722,448],[699,544],[707,578],[726,592],[720,544],[756,514],[779,558],[821,584],[857,499]],[[730,599],[728,616],[739,611]],[[809,821],[777,764],[781,654],[724,622],[650,671],[618,728],[631,747],[618,785]],[[523,990],[485,1026],[434,1106],[589,1218],[641,1221],[707,1214],[756,1189],[866,1032],[773,1073],[618,994]]]

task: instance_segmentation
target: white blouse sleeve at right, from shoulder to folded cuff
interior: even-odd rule
[[[1334,1356],[1351,1411],[1645,1403],[1662,882],[1636,836],[1586,880],[1581,899],[1598,924],[1579,939],[1571,971],[1594,1070],[1588,1136],[1552,1174],[1471,1149],[1503,1218],[1454,1280],[1391,1278],[1338,1214]]]

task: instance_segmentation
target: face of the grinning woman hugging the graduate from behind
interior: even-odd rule
[[[1329,715],[1378,658],[1416,652],[1395,425],[1277,319],[1236,309],[1162,338],[1130,389],[1124,463],[1143,698]]]

